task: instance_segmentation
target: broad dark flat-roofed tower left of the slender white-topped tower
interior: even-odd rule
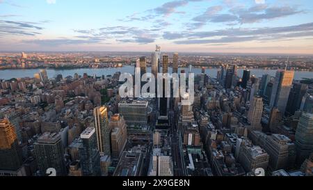
[[[57,176],[67,174],[61,135],[46,132],[34,143],[35,158],[40,175],[46,175],[48,168],[55,168]]]

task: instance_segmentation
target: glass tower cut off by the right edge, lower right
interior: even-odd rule
[[[296,130],[297,164],[302,164],[313,152],[313,114],[302,113]]]

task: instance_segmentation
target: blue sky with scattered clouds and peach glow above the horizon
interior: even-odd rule
[[[0,51],[313,54],[311,0],[0,0]]]

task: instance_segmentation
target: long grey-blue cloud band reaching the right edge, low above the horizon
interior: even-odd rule
[[[211,43],[231,43],[246,42],[251,40],[287,40],[290,38],[303,38],[313,36],[313,22],[294,26],[282,26],[273,28],[243,29],[232,28],[218,31],[202,31],[182,33],[164,33],[163,38],[177,40],[176,44],[211,44]],[[207,39],[211,38],[211,39]],[[213,39],[212,39],[213,38]]]

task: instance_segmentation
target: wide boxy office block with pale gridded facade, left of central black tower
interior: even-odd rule
[[[118,113],[123,116],[127,127],[147,126],[148,102],[145,100],[124,100],[118,103]]]

